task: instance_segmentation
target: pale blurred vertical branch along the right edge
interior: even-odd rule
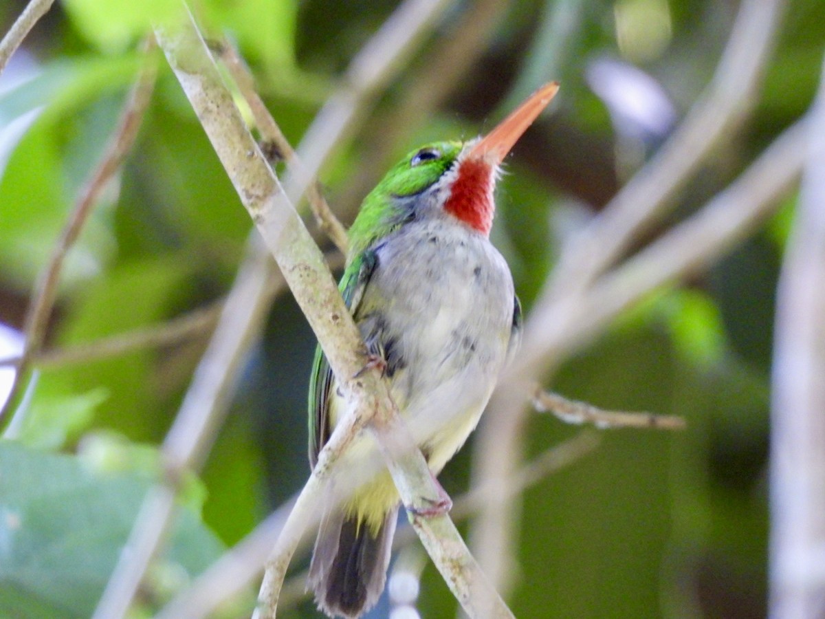
[[[771,617],[825,615],[825,64],[776,299]]]

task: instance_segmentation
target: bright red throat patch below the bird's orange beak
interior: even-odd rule
[[[444,210],[480,233],[489,235],[493,227],[493,170],[483,159],[467,158],[450,188]]]

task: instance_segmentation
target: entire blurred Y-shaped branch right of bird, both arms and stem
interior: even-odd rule
[[[781,191],[794,181],[800,164],[799,154],[794,154],[792,148],[799,146],[801,136],[791,131],[783,135],[784,139],[776,140],[759,159],[758,170],[764,178],[746,172],[742,182],[731,187],[736,187],[736,191],[726,191],[713,201],[720,209],[742,213],[738,222],[741,229],[725,227],[714,231],[700,225],[697,229],[709,234],[706,239],[687,248],[680,243],[680,250],[686,250],[685,257],[677,256],[676,252],[667,252],[664,257],[658,254],[656,257],[662,262],[657,265],[647,259],[654,254],[644,253],[643,262],[629,262],[628,266],[646,267],[645,276],[625,268],[615,274],[636,276],[622,281],[625,285],[632,284],[629,289],[621,289],[615,276],[596,282],[601,273],[621,257],[629,243],[671,204],[676,191],[719,139],[729,135],[744,119],[755,98],[784,6],[783,0],[742,2],[709,92],[700,98],[656,157],[631,179],[606,210],[581,235],[570,239],[553,280],[545,287],[526,321],[522,350],[506,376],[499,380],[500,389],[488,407],[492,414],[486,416],[477,442],[479,458],[475,475],[479,483],[497,480],[502,487],[521,460],[527,414],[522,394],[530,390],[530,385],[546,380],[549,371],[574,347],[641,295],[717,258],[730,243],[747,234],[761,215],[774,206]],[[769,162],[776,163],[779,171],[767,168],[765,164]],[[749,171],[756,168],[754,164]],[[766,193],[758,194],[761,189]],[[749,210],[748,200],[758,208]],[[713,220],[715,215],[709,218]],[[734,215],[732,219],[738,218]],[[697,241],[697,237],[692,235],[691,240]],[[667,248],[667,243],[657,243],[656,251],[662,248]],[[691,258],[690,262],[684,259],[687,257]],[[592,290],[592,286],[595,289]],[[517,509],[518,500],[507,505],[491,504],[474,527],[474,550],[499,591],[507,591],[502,584],[508,582],[515,567],[510,549],[516,523],[511,514]]]

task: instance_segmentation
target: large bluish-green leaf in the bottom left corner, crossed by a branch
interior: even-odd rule
[[[89,617],[148,480],[102,474],[77,457],[10,442],[0,442],[0,470],[0,615]],[[196,513],[180,509],[153,574],[177,574],[174,580],[184,584],[222,550]]]

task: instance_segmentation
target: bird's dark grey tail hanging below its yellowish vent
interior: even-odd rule
[[[356,515],[331,510],[323,517],[309,565],[309,586],[330,617],[361,617],[384,591],[398,505],[378,532]]]

